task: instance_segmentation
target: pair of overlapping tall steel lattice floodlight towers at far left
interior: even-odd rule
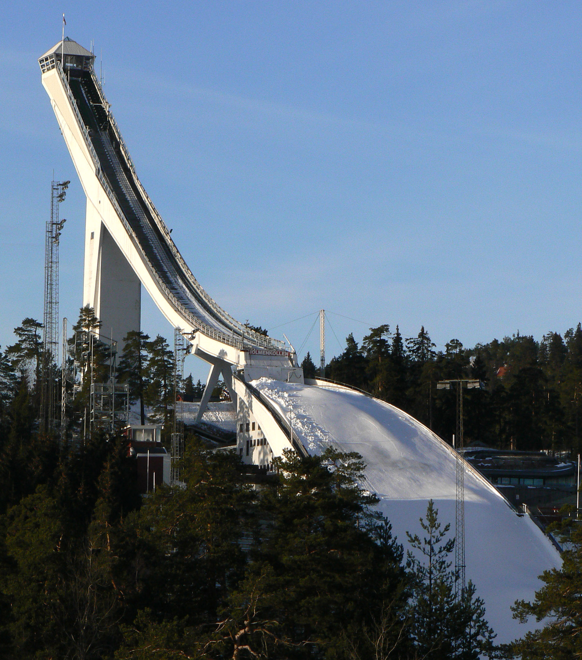
[[[56,417],[57,366],[59,356],[59,239],[66,220],[59,220],[59,205],[65,199],[69,181],[51,182],[51,219],[46,223],[44,253],[44,333],[40,387],[40,430],[51,432],[59,426]]]

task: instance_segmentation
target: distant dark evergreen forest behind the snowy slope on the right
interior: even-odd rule
[[[540,341],[520,335],[464,347],[458,339],[435,350],[428,331],[404,339],[398,325],[370,328],[361,345],[352,334],[346,349],[325,368],[325,378],[358,387],[410,413],[451,444],[456,428],[455,389],[440,380],[473,378],[484,389],[463,397],[465,446],[521,451],[580,452],[582,327]],[[309,354],[306,378],[319,377]]]

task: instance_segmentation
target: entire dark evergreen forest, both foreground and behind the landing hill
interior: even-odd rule
[[[76,325],[77,362],[111,368],[89,346],[90,308]],[[0,657],[124,660],[573,659],[582,654],[582,535],[564,567],[544,574],[515,617],[544,620],[496,645],[470,582],[457,594],[454,530],[432,501],[396,539],[360,487],[356,453],[287,453],[255,488],[239,457],[186,439],[183,487],[137,492],[121,432],[61,442],[39,424],[42,325],[27,318],[0,352]],[[168,424],[173,352],[163,337],[125,338],[117,378],[141,414]],[[466,393],[466,438],[518,449],[577,449],[582,330],[539,343],[519,335],[436,352],[428,333],[387,325],[331,360],[325,376],[403,407],[443,438],[454,432],[445,378],[479,378]],[[309,356],[306,376],[317,376]],[[311,371],[310,371],[311,370]],[[71,431],[81,428],[79,386]],[[197,395],[201,383],[184,383]],[[79,430],[79,428],[77,430]],[[71,436],[73,437],[73,436]],[[550,617],[548,624],[547,617]]]

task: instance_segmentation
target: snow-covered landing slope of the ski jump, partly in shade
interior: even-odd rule
[[[366,484],[406,548],[406,531],[420,533],[432,498],[439,519],[455,530],[455,454],[410,415],[377,399],[340,387],[254,381],[289,417],[310,453],[335,446],[364,457]],[[474,470],[465,472],[467,578],[485,601],[487,618],[509,642],[534,628],[519,624],[509,609],[531,600],[544,570],[560,566],[560,554],[528,516],[519,517],[498,491]]]

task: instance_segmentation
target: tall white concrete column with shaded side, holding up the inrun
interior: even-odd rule
[[[115,244],[95,207],[87,199],[83,305],[90,305],[101,321],[100,333],[117,341],[141,327],[141,282]]]

